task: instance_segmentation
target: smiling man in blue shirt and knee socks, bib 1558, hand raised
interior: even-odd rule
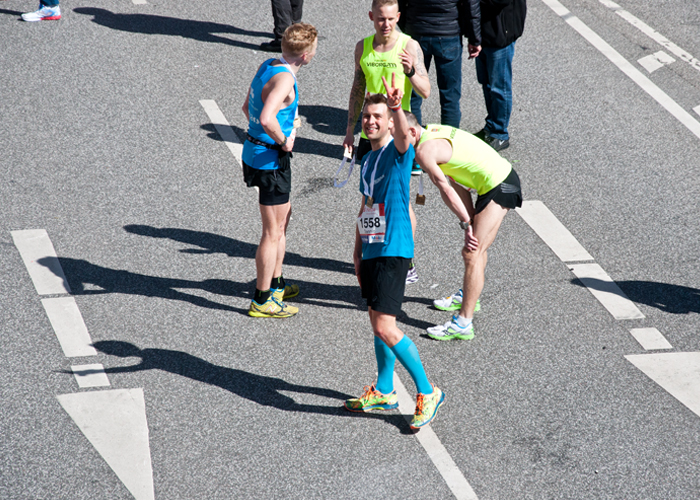
[[[394,390],[394,364],[398,359],[413,378],[418,391],[411,427],[429,424],[445,400],[445,394],[428,381],[418,349],[396,326],[401,312],[406,273],[413,257],[413,231],[408,215],[409,183],[415,153],[403,126],[403,90],[384,79],[387,96],[375,94],[365,100],[362,130],[372,145],[362,162],[360,192],[362,208],[355,228],[355,274],[367,299],[369,319],[374,330],[377,358],[376,385],[365,387],[358,398],[348,399],[350,411],[397,408]],[[390,111],[391,110],[391,111]],[[393,115],[393,116],[392,116]],[[390,128],[394,126],[393,133]]]

